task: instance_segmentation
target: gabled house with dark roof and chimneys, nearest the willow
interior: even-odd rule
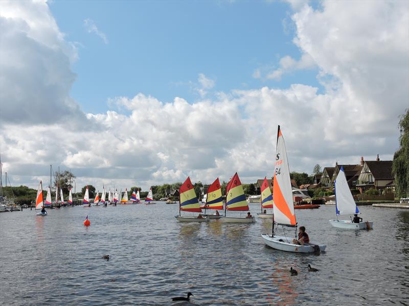
[[[368,189],[390,188],[394,191],[392,161],[381,161],[379,155],[375,161],[364,161],[361,157],[362,170],[359,173],[357,187],[361,193]]]

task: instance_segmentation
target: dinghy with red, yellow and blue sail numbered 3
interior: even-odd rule
[[[224,216],[220,218],[220,221],[229,223],[253,223],[255,221],[254,217],[226,217],[226,211],[249,211],[243,186],[237,172],[226,187],[226,206]]]

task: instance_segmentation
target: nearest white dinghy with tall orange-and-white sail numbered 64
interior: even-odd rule
[[[288,166],[287,151],[285,149],[284,138],[278,126],[277,132],[277,148],[275,155],[274,182],[272,186],[273,197],[273,213],[271,235],[262,234],[261,237],[264,243],[272,248],[299,253],[312,253],[324,251],[327,247],[324,244],[316,244],[310,242],[308,245],[298,245],[292,243],[292,238],[287,236],[274,235],[274,225],[282,225],[293,227],[297,233],[297,220],[294,214],[294,203],[292,201],[292,188],[290,181],[290,169]],[[297,235],[297,234],[296,234]]]

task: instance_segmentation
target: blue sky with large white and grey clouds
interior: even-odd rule
[[[406,1],[1,1],[12,185],[142,186],[391,160],[409,108]]]

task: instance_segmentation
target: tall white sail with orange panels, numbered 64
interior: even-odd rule
[[[283,225],[296,225],[294,203],[292,202],[292,188],[287,151],[283,134],[278,126],[277,148],[275,156],[274,183],[272,189],[274,222]]]

